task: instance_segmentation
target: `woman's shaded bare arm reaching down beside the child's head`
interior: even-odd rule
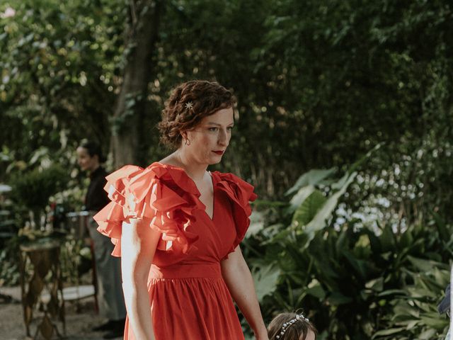
[[[229,254],[228,259],[222,261],[221,265],[222,276],[229,292],[253,329],[256,339],[267,340],[268,332],[261,316],[253,278],[239,246],[236,246],[234,252]]]

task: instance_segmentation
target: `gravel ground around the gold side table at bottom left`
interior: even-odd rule
[[[25,336],[25,325],[23,323],[23,313],[21,305],[21,290],[18,287],[0,287],[0,293],[13,297],[11,303],[0,303],[0,340],[28,340]],[[102,340],[102,332],[93,332],[91,328],[101,324],[104,320],[99,317],[94,310],[93,297],[81,300],[79,308],[75,302],[65,302],[66,311],[66,336],[65,340]],[[35,322],[32,323],[31,333],[34,335],[36,318],[40,312],[35,311],[33,316]],[[58,330],[62,333],[61,324]],[[42,339],[42,337],[39,337]],[[54,336],[52,339],[57,339]],[[117,338],[122,339],[122,337]]]

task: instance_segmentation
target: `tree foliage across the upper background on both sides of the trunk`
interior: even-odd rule
[[[129,117],[109,120],[123,81],[128,6],[47,1],[0,7],[16,10],[0,21],[0,121],[9,127],[0,139],[18,161],[41,145],[53,152],[82,137],[108,145]],[[392,212],[407,191],[401,187],[420,183],[422,204],[403,202],[409,219],[434,203],[453,211],[451,191],[432,180],[453,178],[447,1],[178,0],[165,7],[150,60],[155,77],[142,98],[147,114],[137,130],[141,165],[167,152],[156,123],[169,89],[188,79],[217,79],[239,99],[222,170],[251,179],[261,196],[282,198],[300,172],[350,164],[386,142],[366,170],[376,176],[385,170],[386,178],[404,166],[398,188],[391,186]],[[350,204],[367,198],[361,190]]]

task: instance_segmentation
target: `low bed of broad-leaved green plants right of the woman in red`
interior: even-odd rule
[[[322,174],[310,171],[318,172]],[[333,227],[331,215],[354,175],[327,179],[295,211],[281,209],[292,223],[263,226],[247,239],[244,254],[258,268],[253,271],[256,283],[268,283],[265,294],[260,293],[265,319],[303,308],[320,339],[421,339],[418,334],[433,339],[445,334],[448,322],[436,306],[449,280],[452,226],[441,221],[437,227],[413,224],[395,233],[391,224],[373,230],[348,220]],[[297,196],[301,190],[291,192]]]

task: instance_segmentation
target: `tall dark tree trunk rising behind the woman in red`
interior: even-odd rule
[[[139,124],[144,115],[147,88],[152,77],[151,57],[159,36],[163,3],[159,0],[130,0],[125,67],[120,94],[111,120],[115,168],[137,162]]]

